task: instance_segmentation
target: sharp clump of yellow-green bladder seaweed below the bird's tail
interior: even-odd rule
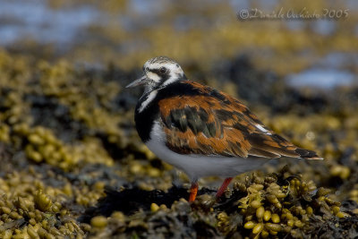
[[[290,179],[291,178],[291,179]],[[251,231],[251,238],[268,238],[282,235],[300,235],[297,230],[310,222],[311,215],[325,210],[323,217],[349,217],[340,211],[340,203],[327,197],[329,190],[315,184],[303,182],[299,176],[289,177],[277,182],[277,176],[264,179],[253,176],[245,183],[235,183],[234,193],[247,194],[234,205],[238,205],[239,214],[243,215],[243,228]],[[284,184],[283,184],[284,183]],[[316,192],[314,192],[316,191]],[[217,215],[219,229],[226,235],[233,233],[230,218],[226,212]],[[301,235],[303,236],[303,235]]]

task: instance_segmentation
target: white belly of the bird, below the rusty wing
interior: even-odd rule
[[[227,158],[220,156],[204,156],[198,154],[178,154],[166,147],[166,135],[160,124],[155,123],[150,134],[148,148],[166,161],[166,163],[183,170],[192,181],[203,176],[217,175],[232,177],[259,168],[267,158]]]

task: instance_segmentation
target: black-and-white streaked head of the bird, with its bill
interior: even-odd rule
[[[145,92],[149,92],[184,79],[186,77],[179,64],[166,56],[158,56],[149,59],[143,65],[142,77],[132,81],[126,88],[143,85]]]

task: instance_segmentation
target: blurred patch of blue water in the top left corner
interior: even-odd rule
[[[90,5],[54,10],[43,0],[0,0],[0,45],[26,38],[68,44],[100,18],[103,16]]]

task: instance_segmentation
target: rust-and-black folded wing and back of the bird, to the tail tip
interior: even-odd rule
[[[240,101],[193,81],[196,93],[158,101],[166,146],[180,154],[321,159],[268,130]]]

